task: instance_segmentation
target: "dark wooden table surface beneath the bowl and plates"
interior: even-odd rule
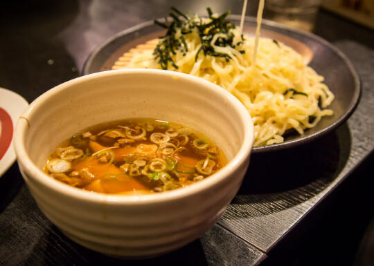
[[[164,17],[172,5],[199,14],[206,6],[215,12],[230,9],[239,14],[242,1],[1,3],[0,86],[32,102],[53,86],[78,77],[89,53],[107,38]],[[255,14],[256,5],[250,4],[247,15]],[[361,240],[352,232],[359,228],[363,233],[373,215],[368,184],[373,178],[374,32],[321,10],[315,33],[335,44],[357,68],[363,84],[357,110],[348,122],[317,141],[253,155],[238,195],[202,238],[150,260],[118,260],[85,249],[66,238],[39,211],[16,163],[0,178],[0,264],[360,263],[352,255],[356,252],[348,254],[348,250],[358,248],[351,247],[352,240]],[[295,167],[285,171],[290,163]],[[329,257],[323,260],[323,255]]]

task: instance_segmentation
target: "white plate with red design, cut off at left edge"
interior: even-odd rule
[[[26,99],[0,87],[0,177],[15,162],[13,132],[19,115],[26,109]]]

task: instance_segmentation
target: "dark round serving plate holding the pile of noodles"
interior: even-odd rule
[[[240,17],[238,15],[231,15],[229,19],[233,23],[239,24]],[[244,33],[254,35],[255,30],[256,19],[246,17]],[[83,66],[82,74],[110,70],[123,53],[161,35],[163,35],[163,31],[159,26],[154,25],[153,21],[119,32],[89,55]],[[253,147],[253,153],[278,151],[305,144],[336,129],[348,119],[359,102],[361,82],[357,71],[346,55],[317,35],[288,28],[273,21],[262,21],[260,36],[282,41],[299,52],[319,75],[325,77],[325,83],[334,93],[335,100],[329,106],[334,111],[334,115],[323,117],[317,126],[306,130],[304,135],[289,133],[285,135],[285,142]]]

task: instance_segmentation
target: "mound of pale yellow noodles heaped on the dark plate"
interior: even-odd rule
[[[254,146],[281,143],[283,135],[292,129],[303,135],[323,116],[333,115],[327,107],[334,95],[299,53],[279,41],[260,38],[252,66],[255,38],[244,36],[242,40],[237,28],[231,29],[231,34],[238,44],[235,48],[215,45],[221,33],[211,41],[215,52],[229,55],[231,59],[227,60],[199,53],[201,38],[192,30],[184,35],[188,51],[176,50],[171,59],[177,68],[168,64],[168,70],[202,77],[235,95],[252,117]],[[160,69],[153,54],[158,43],[159,39],[154,39],[137,46],[118,58],[112,69]]]

